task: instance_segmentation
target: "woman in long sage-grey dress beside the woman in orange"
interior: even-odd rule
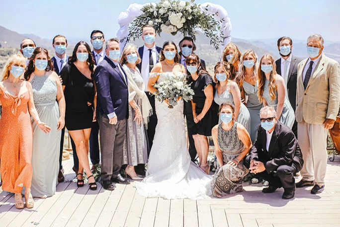
[[[59,151],[61,129],[65,125],[65,98],[58,75],[44,48],[37,47],[24,74],[31,82],[34,105],[39,118],[51,127],[45,134],[35,121],[33,126],[33,177],[31,193],[33,197],[46,198],[54,195],[59,173]]]

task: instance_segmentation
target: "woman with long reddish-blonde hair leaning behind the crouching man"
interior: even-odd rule
[[[272,106],[277,118],[289,128],[293,127],[295,114],[289,100],[285,98],[286,85],[282,76],[276,74],[276,64],[272,56],[264,55],[257,70],[257,96],[263,106]]]

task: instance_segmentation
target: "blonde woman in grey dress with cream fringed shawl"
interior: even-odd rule
[[[149,116],[152,114],[152,107],[146,96],[143,77],[136,64],[141,62],[136,47],[132,44],[127,45],[120,57],[120,64],[128,78],[129,84],[129,119],[126,122],[127,131],[124,140],[124,159],[123,164],[133,180],[141,180],[138,177],[134,166],[148,162],[148,145],[146,127]]]

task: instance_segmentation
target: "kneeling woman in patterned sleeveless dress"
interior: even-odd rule
[[[235,107],[230,102],[220,105],[221,123],[212,129],[218,167],[211,183],[215,197],[243,190],[243,177],[249,170],[243,165],[243,158],[252,148],[252,141],[246,128],[235,122]]]

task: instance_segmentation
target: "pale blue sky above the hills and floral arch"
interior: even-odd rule
[[[223,6],[232,23],[232,37],[270,39],[289,36],[306,40],[320,33],[340,41],[340,0],[196,0]],[[0,25],[20,34],[51,39],[89,38],[94,29],[116,37],[118,16],[131,3],[156,0],[1,0]]]

